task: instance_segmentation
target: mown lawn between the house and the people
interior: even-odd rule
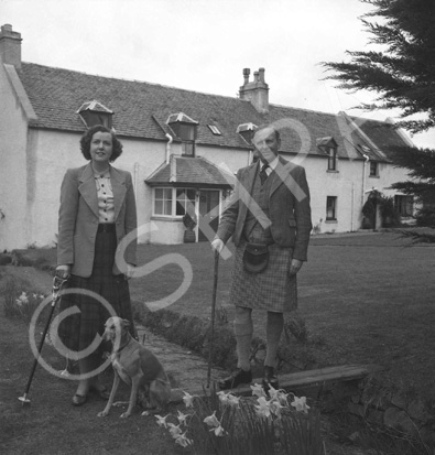
[[[180,254],[193,270],[187,291],[170,310],[210,317],[214,257],[208,243],[141,246],[140,263]],[[376,364],[399,387],[435,399],[435,246],[415,245],[398,234],[314,237],[300,272],[298,314],[312,338],[316,364]],[[217,307],[228,304],[232,258],[220,260]],[[188,275],[188,273],[187,273]],[[132,299],[162,301],[182,286],[183,268],[155,267],[131,281]],[[255,335],[264,338],[264,314],[254,315]],[[296,343],[296,342],[294,342]]]

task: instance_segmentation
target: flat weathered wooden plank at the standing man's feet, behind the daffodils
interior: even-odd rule
[[[296,389],[302,388],[309,388],[322,386],[325,383],[331,382],[340,382],[340,381],[350,381],[362,379],[367,377],[373,370],[379,369],[376,366],[367,366],[367,365],[342,365],[338,367],[326,367],[326,368],[318,368],[315,370],[306,370],[306,371],[298,371],[292,372],[287,375],[280,375],[280,389],[292,390],[295,391]],[[262,383],[262,378],[255,378],[252,380],[251,384],[249,386],[241,386],[237,389],[227,390],[228,392],[241,396],[250,396],[252,394],[252,389],[250,386],[254,383]],[[205,387],[205,383],[204,383]],[[216,384],[216,389],[218,389]],[[213,391],[213,384],[210,389],[205,389],[206,392]],[[186,392],[191,393],[192,396],[199,396],[204,397],[204,389],[196,389],[196,390],[186,390]],[[184,397],[183,390],[174,389],[172,391],[171,401],[172,402],[180,402]]]

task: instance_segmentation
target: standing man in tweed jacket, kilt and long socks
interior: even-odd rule
[[[211,248],[220,252],[232,236],[237,247],[230,302],[236,305],[238,365],[231,376],[219,382],[222,390],[252,381],[252,310],[267,311],[263,387],[279,388],[275,364],[283,313],[297,306],[296,273],[307,260],[312,230],[304,167],[279,156],[280,133],[272,126],[260,127],[252,143],[260,160],[238,171],[235,193],[211,242]],[[254,257],[257,270],[248,271],[251,268],[246,250],[252,243],[255,251],[267,251],[265,256]],[[258,271],[265,262],[265,269]]]

